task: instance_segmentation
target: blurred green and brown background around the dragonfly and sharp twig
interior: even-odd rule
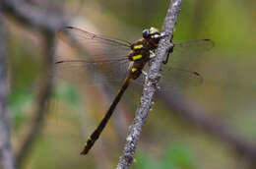
[[[167,0],[25,3],[49,16],[61,15],[68,26],[128,41],[139,39],[144,28],[161,28],[169,4]],[[131,168],[256,168],[256,150],[250,148],[256,146],[255,7],[252,0],[183,0],[173,41],[209,38],[215,42],[212,50],[184,65],[198,71],[204,83],[174,89],[169,92],[172,95],[165,93],[155,98]],[[44,83],[39,77],[51,73],[43,68],[45,38],[40,31],[29,23],[22,25],[12,15],[4,15],[3,19],[8,30],[11,140],[17,152],[34,123],[35,98]],[[54,56],[75,55],[58,39],[54,48]],[[56,71],[58,75],[53,75],[53,93],[46,103],[49,108],[43,115],[43,127],[29,144],[23,168],[116,166],[140,102],[141,87],[128,88],[91,152],[81,156],[85,141],[120,85],[90,83],[87,74],[83,76],[77,71],[61,69]],[[179,106],[175,107],[176,104]]]

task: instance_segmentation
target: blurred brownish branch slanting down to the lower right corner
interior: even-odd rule
[[[254,167],[256,166],[256,145],[239,138],[221,120],[210,116],[210,113],[202,106],[187,100],[181,93],[174,91],[164,90],[164,92],[159,92],[158,96],[169,109],[175,110],[176,113],[189,122],[227,142],[239,155],[246,157]]]

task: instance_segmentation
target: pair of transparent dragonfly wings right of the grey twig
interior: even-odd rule
[[[196,86],[202,84],[203,76],[193,71],[195,64],[200,62],[200,56],[212,49],[214,42],[210,39],[174,43],[173,52],[167,65],[162,65],[163,85],[167,86]]]

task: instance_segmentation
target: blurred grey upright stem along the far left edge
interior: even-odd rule
[[[0,150],[3,169],[15,169],[15,159],[10,142],[10,125],[7,110],[7,51],[5,30],[0,11]]]

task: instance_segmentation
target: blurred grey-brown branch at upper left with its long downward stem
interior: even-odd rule
[[[52,88],[53,75],[53,55],[55,47],[55,31],[63,28],[66,25],[66,20],[60,11],[50,11],[47,9],[33,6],[24,0],[2,0],[0,6],[3,12],[11,17],[15,17],[20,23],[30,28],[37,28],[46,40],[45,44],[45,63],[44,74],[41,77],[39,95],[37,97],[37,106],[34,112],[34,120],[32,127],[29,130],[28,136],[22,143],[21,148],[17,153],[17,166],[21,166],[29,154],[32,143],[40,134],[44,124],[44,114],[46,112],[47,98],[50,95]]]

